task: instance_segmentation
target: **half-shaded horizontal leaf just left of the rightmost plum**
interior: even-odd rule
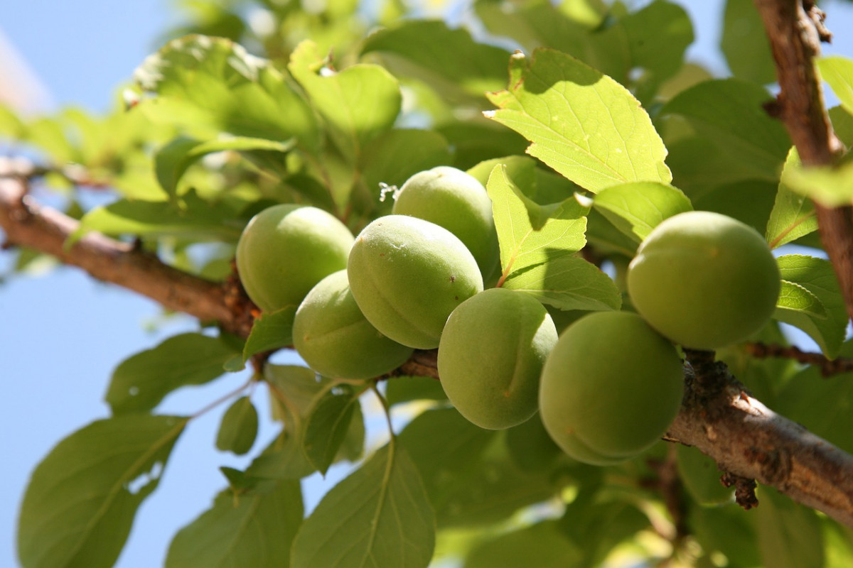
[[[510,273],[509,290],[527,292],[561,310],[618,310],[622,294],[599,267],[577,256],[560,256]]]

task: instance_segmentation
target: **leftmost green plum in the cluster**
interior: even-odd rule
[[[299,306],[314,284],[346,267],[353,240],[350,230],[322,209],[273,205],[243,229],[237,272],[262,310]]]

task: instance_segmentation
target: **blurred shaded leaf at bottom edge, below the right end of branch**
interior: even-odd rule
[[[792,502],[771,488],[758,492],[758,550],[763,565],[774,568],[821,568],[821,521],[813,509]]]

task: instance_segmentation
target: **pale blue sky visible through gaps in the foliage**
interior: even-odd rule
[[[0,28],[40,77],[56,106],[104,110],[117,87],[145,55],[165,26],[176,21],[167,0],[120,3],[109,0],[18,0],[3,6]],[[713,53],[716,2],[682,2],[697,13],[695,59],[721,70]],[[827,3],[829,24],[838,39],[827,53],[853,55],[853,10]],[[834,18],[834,20],[833,20]],[[0,272],[9,255],[0,254]],[[193,330],[176,318],[151,331],[157,305],[145,298],[98,284],[74,269],[15,278],[0,288],[0,355],[3,391],[0,432],[7,465],[0,472],[0,565],[17,565],[15,518],[32,468],[60,439],[96,417],[107,416],[103,393],[113,368],[167,336]],[[246,376],[227,376],[209,387],[185,389],[166,399],[161,411],[192,413],[228,393]],[[258,402],[261,402],[260,400]],[[265,412],[264,404],[258,409]],[[177,529],[204,510],[223,487],[218,467],[245,463],[213,450],[223,408],[194,421],[172,453],[158,491],[142,505],[121,568],[162,565]],[[268,439],[270,431],[262,431]],[[316,502],[317,491],[310,491]]]

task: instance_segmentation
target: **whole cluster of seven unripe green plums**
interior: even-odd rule
[[[558,335],[534,296],[489,288],[499,267],[485,187],[459,169],[413,175],[390,215],[356,237],[310,206],[256,215],[237,247],[258,307],[299,306],[293,347],[323,376],[368,379],[438,348],[451,404],[480,427],[540,412],[569,456],[622,462],[652,445],[681,406],[677,345],[716,349],[760,330],[780,277],[751,227],[690,212],[662,222],[627,274],[636,313],[591,313]]]

